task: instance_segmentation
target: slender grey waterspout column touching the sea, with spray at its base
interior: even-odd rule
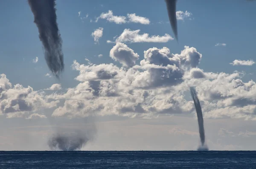
[[[203,113],[201,109],[201,105],[197,96],[197,93],[195,91],[194,87],[190,87],[190,93],[194,100],[195,104],[195,110],[198,117],[198,126],[199,126],[199,135],[201,140],[201,146],[198,148],[198,150],[208,150],[207,146],[204,145],[205,143],[205,135],[204,135],[204,118]]]

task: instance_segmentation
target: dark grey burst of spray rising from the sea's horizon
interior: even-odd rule
[[[81,148],[90,140],[85,133],[77,130],[70,133],[56,133],[48,141],[51,150],[75,151]]]

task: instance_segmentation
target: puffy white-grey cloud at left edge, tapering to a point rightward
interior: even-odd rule
[[[34,91],[32,87],[12,84],[5,74],[0,76],[0,114],[7,117],[20,117],[25,112],[34,112],[42,108],[52,108],[58,100],[48,101],[44,92]]]

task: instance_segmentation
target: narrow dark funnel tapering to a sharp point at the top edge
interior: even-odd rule
[[[176,2],[177,0],[165,0],[168,11],[169,20],[172,26],[172,31],[178,41],[177,18],[176,18]]]

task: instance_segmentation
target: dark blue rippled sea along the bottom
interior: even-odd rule
[[[0,169],[255,169],[256,151],[0,152]]]

